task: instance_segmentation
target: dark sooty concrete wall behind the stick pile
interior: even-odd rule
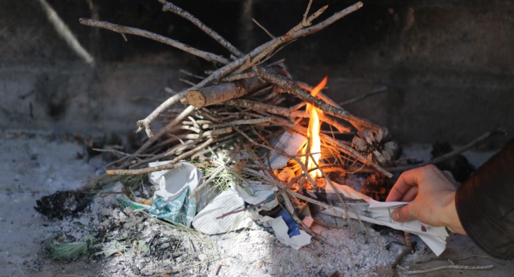
[[[0,127],[70,132],[134,129],[179,90],[185,75],[213,65],[147,39],[78,24],[126,24],[226,55],[158,1],[47,0],[94,57],[83,62],[50,24],[40,1],[0,0]],[[242,49],[297,24],[307,1],[174,1]],[[331,15],[351,1],[329,3]],[[329,75],[338,101],[378,87],[388,92],[347,106],[400,142],[465,143],[492,127],[514,133],[514,1],[364,1],[326,30],[280,51],[299,80]],[[501,141],[501,140],[499,140]],[[498,142],[498,141],[496,141]]]

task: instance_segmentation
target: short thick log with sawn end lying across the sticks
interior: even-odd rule
[[[189,105],[197,108],[219,104],[247,95],[250,91],[264,87],[267,82],[259,78],[247,78],[234,82],[217,84],[212,87],[192,89],[185,94]]]

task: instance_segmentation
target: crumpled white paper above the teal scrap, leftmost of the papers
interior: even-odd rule
[[[156,161],[149,163],[149,166],[163,166],[169,162],[170,161]],[[190,190],[194,192],[202,176],[201,171],[191,163],[185,161],[181,161],[180,163],[182,166],[178,168],[151,172],[149,175],[150,183],[159,187],[154,195],[163,197],[166,202],[173,201],[187,188],[190,188]]]

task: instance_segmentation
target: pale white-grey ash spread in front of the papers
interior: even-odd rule
[[[141,215],[122,208],[115,197],[95,197],[80,217],[55,221],[47,227],[49,233],[77,242],[101,232],[106,232],[104,242],[126,238],[121,242],[127,249],[121,255],[92,258],[93,263],[101,262],[98,276],[166,272],[209,276],[216,269],[217,276],[331,276],[336,271],[340,276],[373,276],[377,267],[390,267],[404,249],[393,243],[395,239],[390,235],[381,235],[369,224],[365,224],[369,238],[364,242],[362,230],[354,234],[345,220],[326,215],[315,217],[320,224],[313,224],[313,231],[327,243],[313,240],[307,247],[294,250],[262,229],[203,236],[212,242],[210,245],[151,219],[133,222]],[[358,222],[354,225],[358,226]],[[133,241],[149,244],[150,251],[138,253],[137,247],[131,247]]]

